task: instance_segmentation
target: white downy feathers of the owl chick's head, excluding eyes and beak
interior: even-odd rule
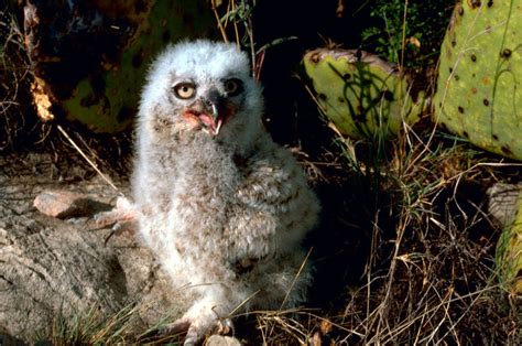
[[[204,105],[209,95],[215,94],[235,109],[233,116],[224,122],[218,140],[248,140],[259,128],[263,110],[261,87],[251,77],[249,65],[247,54],[235,44],[199,40],[168,46],[148,75],[138,119],[140,130],[173,134],[180,130],[205,128],[191,128],[187,117],[183,119],[182,115]],[[227,94],[226,82],[230,79],[240,80],[238,95]],[[173,88],[181,83],[195,86],[194,97],[176,97]],[[199,121],[197,117],[193,120],[192,125]]]

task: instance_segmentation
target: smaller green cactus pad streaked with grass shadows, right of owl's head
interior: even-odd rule
[[[409,77],[370,53],[318,48],[303,64],[319,109],[352,139],[393,137],[423,109],[424,95],[413,97]]]

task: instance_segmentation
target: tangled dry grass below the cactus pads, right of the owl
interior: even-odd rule
[[[392,145],[395,153],[400,142]],[[406,149],[406,156],[396,155],[379,169],[381,180],[373,193],[385,204],[374,210],[360,285],[345,290],[344,304],[328,311],[258,314],[259,340],[269,345],[520,340],[520,302],[498,284],[499,230],[485,213],[483,194],[488,183],[516,165],[475,158],[467,144],[435,142],[416,142]],[[347,214],[351,207],[346,206]],[[392,225],[379,216],[387,209],[393,214]],[[345,267],[352,269],[350,263]]]

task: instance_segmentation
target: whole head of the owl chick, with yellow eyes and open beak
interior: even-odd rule
[[[142,94],[139,122],[161,133],[236,137],[259,126],[261,87],[235,44],[210,41],[168,46],[154,62]]]

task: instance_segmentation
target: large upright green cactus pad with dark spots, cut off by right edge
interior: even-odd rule
[[[522,0],[460,1],[441,48],[434,120],[522,160]]]

